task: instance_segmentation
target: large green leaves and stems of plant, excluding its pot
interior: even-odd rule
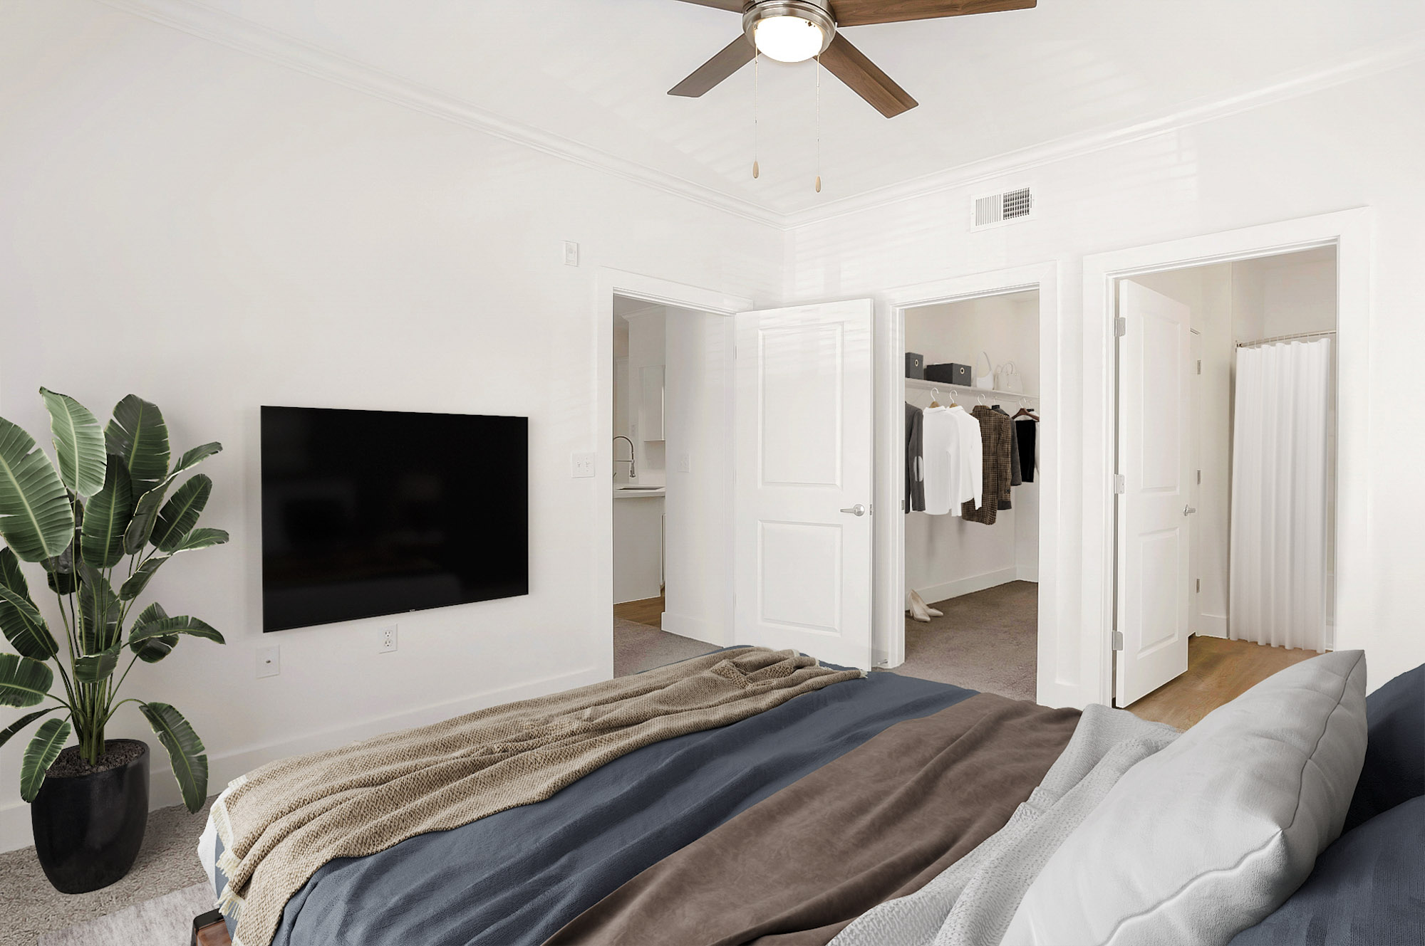
[[[147,400],[128,395],[100,427],[73,397],[44,388],[40,396],[58,469],[28,433],[0,417],[0,631],[16,650],[0,653],[0,705],[56,705],[16,719],[0,731],[0,745],[64,711],[46,719],[24,751],[20,795],[31,802],[71,731],[84,761],[95,765],[104,755],[104,727],[123,704],[135,702],[168,751],[184,804],[198,811],[208,792],[208,757],[198,734],[171,705],[120,700],[118,691],[135,662],[161,661],[180,635],[224,643],[204,621],[170,617],[158,603],[130,617],[170,558],[228,541],[221,529],[197,524],[211,479],[200,473],[168,493],[180,474],[222,445],[194,447],[170,466],[168,427]],[[21,561],[44,570],[63,633],[51,631],[41,615]],[[124,657],[128,665],[115,678]],[[51,692],[51,661],[60,692]]]

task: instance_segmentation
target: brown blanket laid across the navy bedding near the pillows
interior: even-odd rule
[[[546,946],[824,946],[999,831],[1077,721],[979,694],[899,722],[653,865]]]

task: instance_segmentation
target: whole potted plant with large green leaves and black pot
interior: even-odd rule
[[[188,811],[202,808],[208,794],[208,757],[188,721],[164,702],[120,700],[118,690],[135,662],[161,661],[182,634],[224,643],[205,623],[170,617],[158,603],[135,613],[164,563],[228,540],[221,529],[197,526],[212,480],[200,473],[170,494],[180,474],[222,445],[194,447],[170,467],[168,429],[154,405],[130,395],[100,427],[73,397],[44,388],[40,395],[58,470],[28,433],[0,417],[0,631],[16,650],[0,653],[0,705],[54,705],[11,722],[0,745],[63,714],[46,719],[26,748],[20,795],[31,802],[50,883],[83,893],[123,878],[144,839],[148,747],[104,738],[123,704],[138,704],[168,751]],[[58,625],[41,615],[21,561],[44,570]],[[66,749],[71,732],[78,745]]]

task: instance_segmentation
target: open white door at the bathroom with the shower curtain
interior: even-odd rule
[[[1193,513],[1191,311],[1119,284],[1119,564],[1114,702],[1187,670]],[[1117,637],[1117,635],[1116,635]]]

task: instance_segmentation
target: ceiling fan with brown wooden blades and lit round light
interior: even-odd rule
[[[1027,10],[1037,0],[683,0],[742,14],[742,36],[668,90],[697,98],[742,68],[757,53],[782,63],[819,56],[836,78],[882,115],[893,118],[916,107],[909,93],[882,73],[865,53],[836,30],[872,23],[933,20],[972,13]]]

